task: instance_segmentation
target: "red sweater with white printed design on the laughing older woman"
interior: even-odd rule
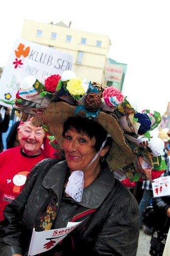
[[[38,156],[21,153],[21,146],[0,153],[0,221],[3,210],[22,190],[32,167],[45,159],[44,150]]]

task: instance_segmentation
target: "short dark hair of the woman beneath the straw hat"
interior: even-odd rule
[[[65,137],[65,132],[74,127],[79,133],[84,132],[91,139],[93,136],[96,138],[96,145],[94,146],[98,152],[102,143],[106,140],[106,130],[97,122],[84,118],[81,116],[69,117],[63,125],[62,136]],[[105,146],[112,146],[113,139],[108,137]]]

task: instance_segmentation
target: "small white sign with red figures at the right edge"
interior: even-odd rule
[[[155,179],[152,189],[154,197],[170,195],[170,176]]]

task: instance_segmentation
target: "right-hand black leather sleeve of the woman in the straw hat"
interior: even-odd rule
[[[119,193],[118,198],[113,200],[105,223],[97,236],[92,252],[94,256],[102,256],[103,253],[121,256],[137,254],[140,232],[139,205],[135,198],[127,195],[127,192],[123,193],[119,190],[117,193]],[[115,194],[114,196],[116,197]]]

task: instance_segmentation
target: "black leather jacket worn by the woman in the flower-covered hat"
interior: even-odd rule
[[[139,238],[139,206],[129,190],[114,178],[106,166],[100,177],[84,189],[81,202],[62,197],[67,172],[66,161],[44,159],[30,172],[20,195],[4,210],[0,227],[0,256],[28,255],[34,220],[52,188],[57,195],[58,212],[52,228],[61,228],[76,219],[77,213],[91,209],[63,242],[41,256],[136,256]],[[92,211],[96,209],[96,211]],[[90,212],[90,211],[88,211]],[[82,220],[79,215],[75,221]],[[57,254],[56,254],[57,255]]]

